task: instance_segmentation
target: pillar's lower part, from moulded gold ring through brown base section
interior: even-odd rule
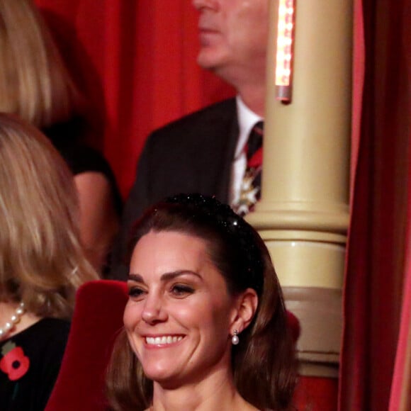
[[[297,354],[303,376],[339,375],[348,218],[347,207],[338,213],[270,213],[257,207],[247,215],[269,249],[286,308],[300,322]]]

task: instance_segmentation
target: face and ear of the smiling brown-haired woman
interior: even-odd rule
[[[249,325],[256,291],[230,295],[204,240],[180,232],[142,237],[130,270],[142,278],[129,281],[124,325],[145,375],[167,385],[208,373],[225,382],[229,335]]]

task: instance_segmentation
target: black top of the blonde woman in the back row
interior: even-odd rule
[[[116,178],[103,155],[94,150],[94,148],[84,144],[84,129],[84,120],[73,118],[65,123],[51,125],[42,131],[60,152],[74,176],[87,171],[95,171],[106,177],[113,193],[114,207],[120,216],[123,201],[118,190]]]

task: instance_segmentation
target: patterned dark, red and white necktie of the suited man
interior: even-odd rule
[[[247,146],[245,147],[247,169],[242,179],[240,199],[235,206],[235,211],[239,215],[246,215],[249,211],[252,211],[255,203],[261,197],[263,134],[264,123],[262,121],[256,123],[249,133]]]

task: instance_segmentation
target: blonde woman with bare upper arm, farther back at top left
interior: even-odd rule
[[[0,111],[42,130],[66,160],[79,192],[81,239],[101,270],[121,205],[113,173],[81,142],[84,103],[33,1],[0,0],[0,21]]]

